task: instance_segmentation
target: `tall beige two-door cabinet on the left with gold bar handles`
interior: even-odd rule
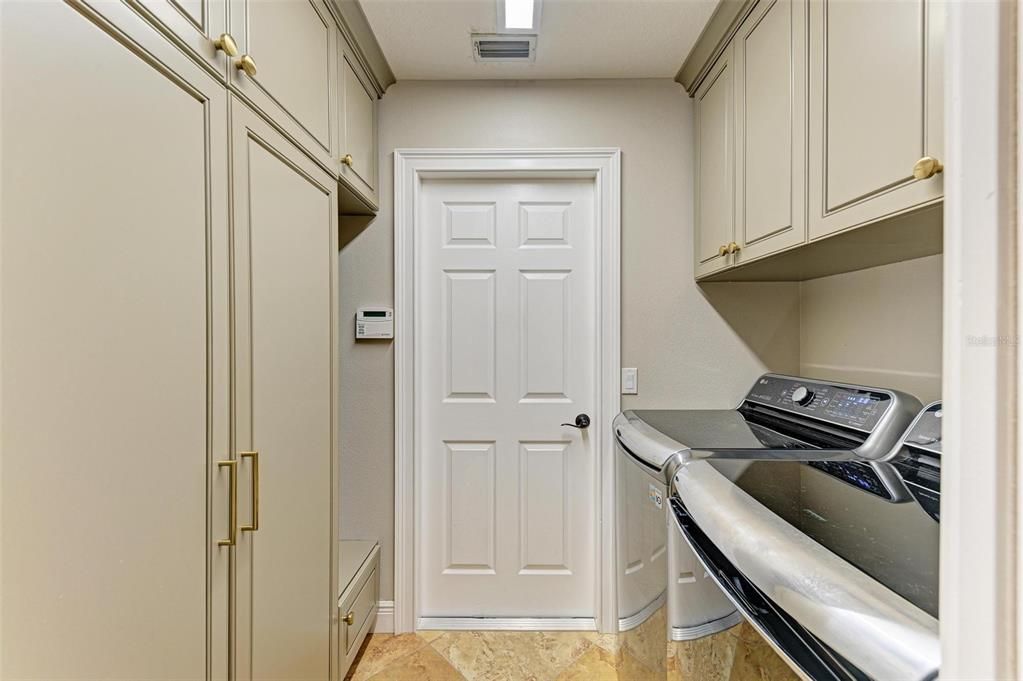
[[[337,679],[337,179],[97,7],[0,4],[0,678]]]

